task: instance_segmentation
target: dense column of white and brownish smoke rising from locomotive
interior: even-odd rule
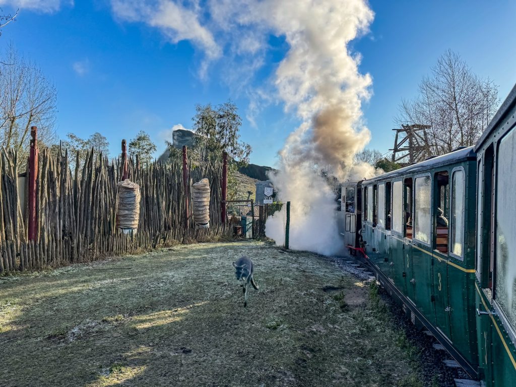
[[[361,125],[361,103],[369,97],[371,78],[359,73],[360,57],[348,51],[373,12],[363,1],[269,4],[275,8],[269,13],[273,26],[291,46],[276,84],[303,120],[280,152],[281,172],[271,178],[281,200],[292,203],[290,247],[334,254],[343,246],[335,193],[317,167],[329,166],[340,181],[375,174],[370,166],[353,167],[354,153],[370,138]],[[278,245],[284,242],[284,212],[267,220],[267,236]]]

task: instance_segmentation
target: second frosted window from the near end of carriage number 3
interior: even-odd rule
[[[430,243],[430,176],[416,178],[414,184],[414,238]]]

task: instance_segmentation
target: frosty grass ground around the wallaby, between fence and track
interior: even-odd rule
[[[251,257],[243,307],[231,263]],[[336,259],[175,247],[0,279],[2,386],[410,385],[399,332]]]

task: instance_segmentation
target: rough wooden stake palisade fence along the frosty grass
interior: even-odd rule
[[[116,227],[123,163],[110,163],[93,151],[83,163],[78,154],[74,158],[73,173],[66,151],[52,155],[44,149],[39,155],[36,236],[29,240],[27,200],[19,199],[27,198],[23,186],[28,184],[18,183],[17,154],[0,150],[0,273],[89,262],[227,234],[221,222],[222,163],[189,163],[189,181],[183,184],[181,158],[146,166],[129,158],[128,178],[141,190],[140,222],[136,233],[123,234]],[[208,178],[212,192],[209,229],[196,229],[191,216],[185,219],[191,214],[191,208],[185,208],[191,203],[185,200],[189,187],[202,178]]]

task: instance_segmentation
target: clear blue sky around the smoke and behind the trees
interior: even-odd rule
[[[242,139],[253,147],[251,162],[273,165],[299,124],[270,86],[288,50],[281,36],[268,35],[261,66],[251,71],[256,63],[234,50],[206,60],[214,50],[209,40],[171,38],[134,15],[117,14],[116,0],[24,2],[34,7],[22,8],[18,20],[3,29],[0,49],[14,43],[55,83],[62,138],[100,132],[116,155],[122,138],[144,130],[163,151],[174,125],[191,126],[196,103],[232,99],[243,117]],[[19,3],[0,0],[4,11]],[[372,133],[368,148],[385,153],[392,147],[399,102],[415,95],[419,80],[445,50],[492,78],[501,100],[516,83],[515,2],[377,0],[369,6],[375,13],[370,31],[351,43],[362,56],[360,72],[373,78],[373,95],[363,105]]]

